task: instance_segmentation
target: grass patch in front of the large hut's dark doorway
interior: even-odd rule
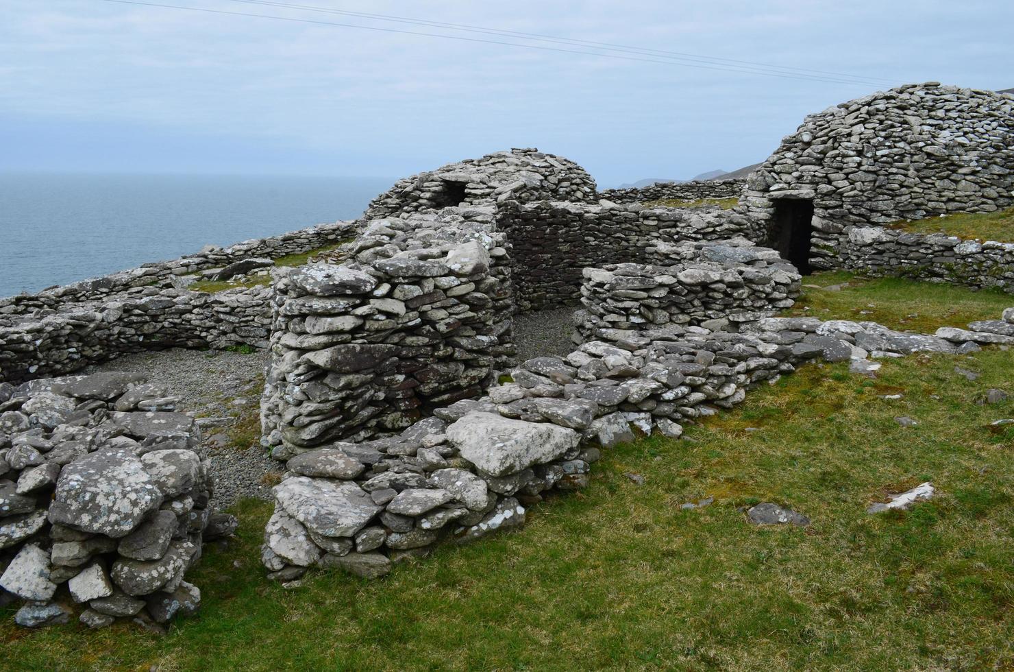
[[[973,291],[906,278],[869,279],[828,272],[804,277],[802,294],[783,315],[869,320],[892,329],[932,334],[939,327],[963,329],[973,320],[996,320],[1010,306],[1014,296],[1000,289]]]

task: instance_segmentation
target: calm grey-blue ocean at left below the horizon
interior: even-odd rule
[[[0,296],[353,219],[394,182],[0,173]]]

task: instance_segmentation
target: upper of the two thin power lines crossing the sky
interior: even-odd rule
[[[732,65],[734,67],[744,67],[758,72],[775,72],[780,74],[815,74],[829,75],[836,78],[854,79],[857,83],[896,83],[893,79],[884,77],[870,77],[867,75],[853,75],[846,72],[832,72],[828,70],[812,70],[809,68],[798,68],[794,66],[775,65],[773,63],[758,63],[754,61],[740,61],[736,59],[722,58],[718,56],[707,56],[702,54],[690,54],[685,52],[673,52],[661,49],[648,49],[645,47],[632,47],[630,45],[618,45],[608,42],[594,42],[590,40],[575,40],[572,38],[562,38],[539,32],[521,32],[518,30],[505,30],[502,28],[491,28],[481,25],[468,25],[465,23],[447,23],[444,21],[432,21],[429,19],[411,18],[407,16],[392,16],[389,14],[376,14],[371,12],[351,11],[346,9],[334,9],[331,7],[320,7],[319,5],[303,5],[292,2],[279,2],[277,0],[230,0],[247,5],[263,5],[267,7],[279,7],[284,9],[298,9],[301,11],[311,11],[325,14],[337,14],[341,16],[354,16],[378,21],[391,21],[395,23],[409,23],[413,25],[426,25],[450,30],[461,30],[465,32],[476,32],[481,35],[493,35],[509,37],[534,42],[548,42],[553,44],[571,45],[579,47],[590,47],[626,54],[641,54],[645,56],[655,56],[672,59],[674,61],[687,61],[692,63],[705,63],[710,65]]]

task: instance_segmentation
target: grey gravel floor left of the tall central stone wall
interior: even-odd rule
[[[247,496],[267,499],[269,472],[280,472],[281,464],[268,457],[260,445],[233,445],[229,427],[250,421],[260,412],[264,367],[268,353],[252,354],[173,348],[140,352],[89,366],[100,371],[137,372],[151,382],[163,384],[168,393],[182,397],[178,410],[198,416],[202,424],[202,452],[212,458],[215,476],[215,507],[225,509]]]

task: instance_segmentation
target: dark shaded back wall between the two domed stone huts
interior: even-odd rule
[[[679,242],[754,237],[747,217],[717,206],[645,208],[605,200],[506,203],[498,209],[497,229],[511,242],[519,312],[576,301],[585,267],[664,264],[666,246]]]

